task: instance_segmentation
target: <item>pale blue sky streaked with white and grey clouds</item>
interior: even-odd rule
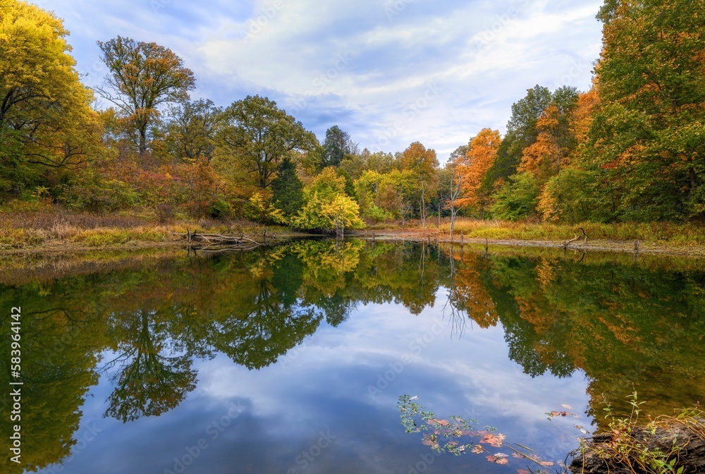
[[[192,99],[276,101],[319,140],[412,142],[441,162],[482,128],[505,132],[527,89],[588,90],[601,0],[35,0],[63,18],[84,82],[107,73],[96,41],[157,42],[196,78]]]

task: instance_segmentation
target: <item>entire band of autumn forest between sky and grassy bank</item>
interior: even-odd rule
[[[300,229],[457,215],[699,221],[705,217],[704,0],[606,0],[591,90],[536,85],[507,131],[485,128],[441,166],[414,142],[323,142],[266,97],[192,99],[170,49],[99,41],[104,83],[81,83],[60,18],[0,5],[0,201],[159,219],[233,217]],[[451,224],[452,225],[452,224]]]

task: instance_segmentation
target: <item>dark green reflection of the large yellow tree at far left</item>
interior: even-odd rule
[[[97,384],[95,367],[105,344],[104,326],[92,302],[77,298],[75,290],[85,291],[91,282],[82,277],[67,279],[63,285],[29,284],[20,287],[0,285],[0,307],[21,304],[21,386],[22,409],[21,465],[10,460],[15,423],[0,423],[0,449],[5,456],[0,472],[19,474],[38,470],[71,453],[73,434],[82,416],[87,391]],[[8,419],[13,409],[11,377],[11,333],[9,311],[0,316],[0,411]],[[4,415],[4,416],[5,416]],[[18,420],[20,421],[20,420]],[[20,423],[18,423],[20,424]]]

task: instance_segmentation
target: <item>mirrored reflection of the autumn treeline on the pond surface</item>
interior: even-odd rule
[[[32,433],[23,445],[25,467],[66,460],[86,394],[101,374],[111,380],[104,416],[127,423],[164,415],[197,387],[198,360],[225,355],[247,370],[264,370],[324,325],[342,327],[367,305],[400,305],[408,317],[436,306],[455,339],[501,327],[509,358],[530,377],[582,370],[589,412],[599,410],[601,394],[620,408],[632,384],[654,414],[703,399],[700,264],[582,257],[296,241],[7,282],[1,307],[23,306],[23,427]],[[2,353],[9,353],[8,327]],[[7,387],[8,370],[0,377]],[[2,401],[6,413],[10,400]],[[4,451],[10,429],[2,424]],[[1,462],[3,472],[22,470]]]

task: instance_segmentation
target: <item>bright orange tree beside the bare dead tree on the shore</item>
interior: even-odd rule
[[[488,205],[489,193],[481,192],[487,171],[491,169],[497,157],[501,143],[498,130],[483,128],[475,138],[470,140],[465,159],[460,162],[458,172],[462,174],[462,197],[458,205],[467,205],[480,210],[484,218]]]

